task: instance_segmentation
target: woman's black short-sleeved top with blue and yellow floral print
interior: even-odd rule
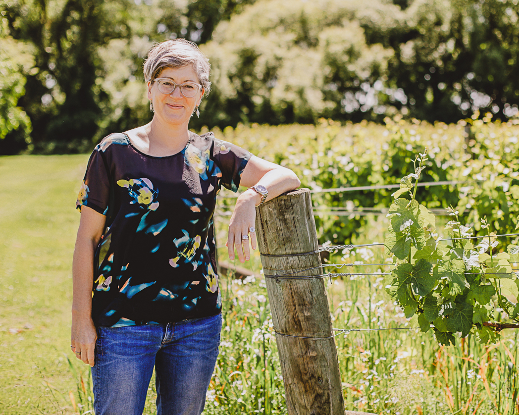
[[[76,207],[106,215],[94,259],[96,326],[178,322],[221,312],[213,213],[237,191],[251,154],[209,132],[153,157],[115,133],[88,161]]]

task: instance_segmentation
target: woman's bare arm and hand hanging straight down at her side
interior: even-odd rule
[[[92,322],[92,284],[95,248],[103,234],[106,216],[81,207],[81,219],[77,231],[72,261],[72,351],[84,363],[94,365],[97,333]],[[78,355],[77,352],[81,354]]]

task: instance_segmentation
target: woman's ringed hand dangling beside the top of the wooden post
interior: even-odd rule
[[[238,252],[238,259],[240,262],[248,261],[251,258],[249,250],[249,239],[251,241],[252,249],[256,249],[256,232],[254,225],[256,221],[256,202],[258,201],[258,193],[254,190],[244,191],[236,202],[233,216],[230,217],[229,222],[229,236],[227,237],[227,249],[229,251],[229,258],[234,259],[234,250]],[[253,231],[251,231],[251,228]],[[247,236],[247,239],[242,237]]]

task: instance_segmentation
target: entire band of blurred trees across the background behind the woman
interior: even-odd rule
[[[0,0],[0,154],[87,151],[151,119],[142,63],[186,37],[213,68],[192,127],[453,122],[519,104],[517,0]]]

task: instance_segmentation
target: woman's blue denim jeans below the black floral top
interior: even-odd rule
[[[157,415],[200,415],[222,315],[179,323],[98,327],[92,367],[96,415],[142,415],[155,366]]]

